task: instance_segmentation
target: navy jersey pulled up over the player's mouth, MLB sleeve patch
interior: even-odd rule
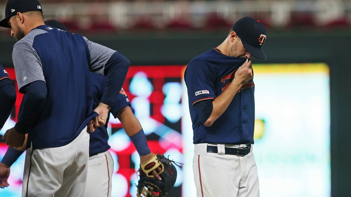
[[[192,59],[185,70],[193,143],[253,144],[254,83],[250,80],[234,96],[224,113],[211,125],[203,125],[194,108],[198,102],[213,100],[229,86],[231,77],[246,58],[226,56],[215,49]]]

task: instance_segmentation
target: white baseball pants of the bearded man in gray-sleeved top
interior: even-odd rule
[[[62,147],[26,151],[22,197],[84,197],[89,158],[86,128]]]

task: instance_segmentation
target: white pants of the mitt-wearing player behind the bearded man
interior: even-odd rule
[[[89,157],[85,197],[111,197],[113,159],[107,150]]]

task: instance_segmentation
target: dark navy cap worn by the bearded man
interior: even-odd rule
[[[11,28],[8,25],[8,20],[17,12],[24,13],[29,11],[43,12],[38,0],[9,0],[5,8],[5,19],[0,21],[0,27]]]

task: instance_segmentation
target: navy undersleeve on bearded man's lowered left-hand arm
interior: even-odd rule
[[[47,88],[44,81],[34,81],[25,87],[22,110],[14,128],[20,134],[27,134],[44,107]]]

